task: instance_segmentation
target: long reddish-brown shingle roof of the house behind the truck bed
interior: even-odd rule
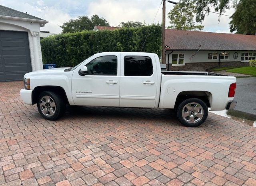
[[[256,36],[166,29],[165,45],[166,50],[256,51]]]

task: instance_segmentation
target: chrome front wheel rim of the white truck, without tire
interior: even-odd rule
[[[49,117],[49,116],[54,115],[54,113],[56,111],[56,105],[55,105],[54,100],[48,95],[41,97],[40,109],[45,116]]]

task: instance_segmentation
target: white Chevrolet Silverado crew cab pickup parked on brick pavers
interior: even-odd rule
[[[236,78],[210,72],[162,71],[158,55],[97,53],[70,68],[24,75],[20,95],[48,120],[69,105],[175,109],[180,123],[197,127],[213,110],[233,109]]]

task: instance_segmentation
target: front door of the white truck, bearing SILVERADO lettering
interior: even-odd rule
[[[75,105],[119,107],[120,53],[95,57],[85,66],[86,75],[76,69],[72,77]]]

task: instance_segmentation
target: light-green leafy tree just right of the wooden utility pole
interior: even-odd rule
[[[196,7],[194,1],[183,0],[174,6],[168,13],[171,26],[168,28],[177,30],[203,30],[204,26],[195,25],[194,14]]]

